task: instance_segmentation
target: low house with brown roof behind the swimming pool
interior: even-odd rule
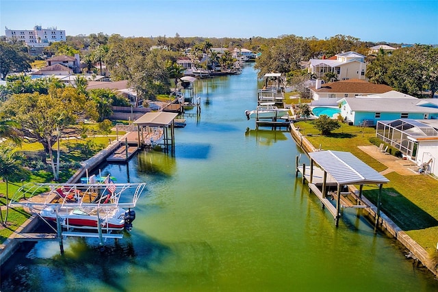
[[[374,84],[361,79],[349,79],[322,83],[321,79],[316,80],[315,85],[309,87],[313,100],[322,98],[344,98],[364,96],[368,94],[381,94],[392,90],[391,86]]]

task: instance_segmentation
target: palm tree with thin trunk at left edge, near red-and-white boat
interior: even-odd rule
[[[9,213],[9,182],[20,181],[22,178],[27,178],[29,172],[22,166],[21,156],[18,155],[12,148],[0,147],[0,177],[6,183],[6,215],[3,220],[3,213],[0,211],[0,220],[3,226],[8,222]]]

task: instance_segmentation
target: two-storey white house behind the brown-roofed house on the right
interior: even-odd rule
[[[336,59],[310,59],[307,70],[317,78],[323,78],[327,72],[333,72],[337,80],[365,79],[365,56],[356,52],[335,55]]]

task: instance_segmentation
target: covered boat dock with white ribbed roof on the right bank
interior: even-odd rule
[[[305,165],[302,165],[302,168],[300,168],[298,166],[298,157],[296,158],[296,174],[298,175],[298,171],[302,172],[303,181],[304,179],[308,181],[309,189],[318,196],[323,203],[323,206],[327,207],[333,217],[335,217],[336,226],[339,224],[340,217],[339,209],[341,208],[343,194],[341,189],[348,185],[359,185],[358,201],[360,201],[362,196],[363,185],[378,185],[376,224],[378,223],[380,217],[382,187],[384,183],[389,182],[385,176],[355,157],[355,155],[352,155],[350,152],[333,150],[317,151],[309,152],[309,157],[310,168],[307,169]],[[315,163],[319,165],[320,168],[315,167]],[[307,174],[307,171],[309,171],[309,174]],[[316,172],[320,172],[320,175],[315,175]],[[337,199],[336,208],[333,207],[331,201],[326,198],[328,185],[334,185],[337,187],[337,191],[335,192],[335,197]],[[348,207],[364,208],[368,206],[366,204],[357,204]]]

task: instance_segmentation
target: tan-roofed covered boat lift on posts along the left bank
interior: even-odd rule
[[[176,113],[169,113],[164,111],[157,111],[146,113],[133,122],[138,127],[138,148],[144,141],[142,141],[143,135],[140,135],[145,127],[161,127],[163,128],[163,142],[162,145],[167,150],[170,146],[172,149],[175,147],[175,118],[178,116]],[[169,133],[170,129],[170,133]]]

